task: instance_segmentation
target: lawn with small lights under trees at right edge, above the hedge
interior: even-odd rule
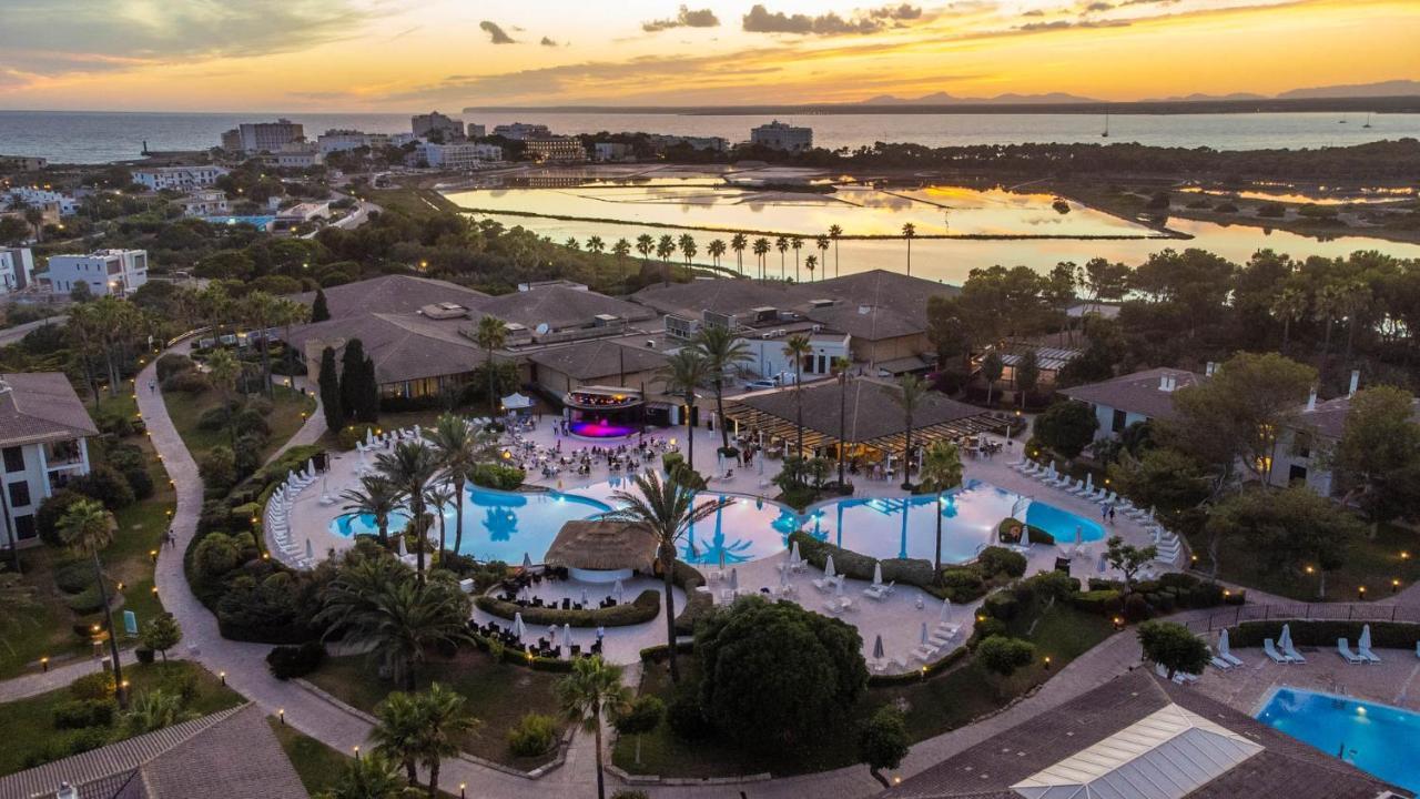
[[[1197,543],[1196,567],[1207,573],[1207,542]],[[1325,597],[1318,596],[1318,574],[1308,574],[1305,564],[1268,569],[1238,540],[1223,542],[1218,557],[1218,579],[1301,601],[1355,601],[1360,586],[1366,587],[1366,599],[1377,600],[1390,596],[1396,587],[1393,580],[1400,581],[1399,589],[1420,581],[1420,533],[1396,525],[1380,525],[1375,537],[1362,536],[1352,542],[1346,549],[1345,566],[1326,574]]]

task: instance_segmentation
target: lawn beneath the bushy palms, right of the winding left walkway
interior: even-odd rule
[[[507,731],[530,712],[557,718],[562,729],[565,725],[552,697],[552,685],[559,678],[559,674],[497,663],[483,653],[463,648],[453,660],[430,660],[420,670],[419,687],[442,682],[467,699],[464,708],[481,724],[463,736],[460,749],[527,771],[548,762],[551,755],[514,756],[508,751]],[[373,712],[375,705],[395,690],[392,682],[379,680],[361,655],[331,658],[308,680],[366,712]]]

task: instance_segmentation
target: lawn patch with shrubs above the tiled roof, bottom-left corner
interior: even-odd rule
[[[220,680],[193,663],[155,663],[124,670],[124,678],[129,681],[129,695],[165,685],[170,687],[173,681],[186,680],[186,675],[195,681],[192,699],[185,708],[192,714],[213,714],[244,701],[240,694],[226,688]],[[71,746],[81,736],[92,738],[91,742],[99,744],[112,744],[124,738],[116,722],[82,731],[55,729],[54,709],[72,698],[68,688],[60,688],[0,705],[0,739],[6,741],[6,745],[0,746],[0,773],[13,773],[65,758],[74,754]],[[98,741],[99,736],[104,739]]]

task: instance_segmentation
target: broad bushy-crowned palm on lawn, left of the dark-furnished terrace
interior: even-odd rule
[[[429,647],[469,640],[469,610],[467,594],[443,577],[420,587],[408,570],[373,577],[346,577],[342,572],[327,589],[317,620],[329,624],[327,636],[342,630],[346,644],[368,651],[396,682],[413,691],[416,667]]]

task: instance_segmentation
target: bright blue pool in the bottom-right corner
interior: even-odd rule
[[[1380,779],[1420,792],[1420,714],[1298,688],[1278,688],[1258,721]]]

